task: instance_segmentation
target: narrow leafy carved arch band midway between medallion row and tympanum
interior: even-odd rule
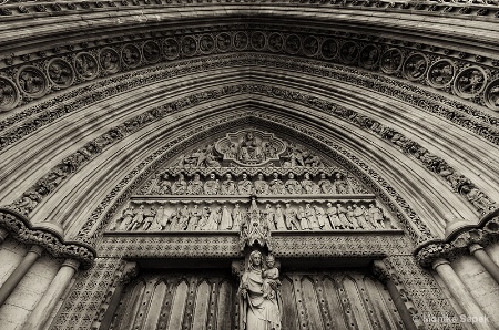
[[[17,199],[8,207],[16,209],[23,215],[28,215],[37,207],[41,199],[51,194],[61,184],[62,181],[67,179],[79,167],[88,163],[91,158],[101,154],[105,147],[124,138],[126,135],[138,132],[139,130],[154,121],[161,120],[173,112],[187,109],[191,105],[191,100],[193,99],[196,100],[196,104],[200,104],[226,95],[241,93],[258,93],[272,97],[278,97],[289,102],[296,102],[306,105],[310,109],[319,110],[326,114],[342,117],[343,120],[352,124],[373,132],[380,138],[384,138],[388,143],[391,143],[403,153],[415,156],[422,166],[445,178],[451,186],[451,188],[456,193],[459,193],[461,196],[464,196],[464,199],[469,202],[479,213],[486,214],[491,209],[498,208],[498,205],[495,202],[492,202],[486,194],[479,190],[462,174],[449,166],[444,159],[437,157],[436,155],[432,155],[421,145],[411,141],[394,128],[343,105],[329,102],[328,100],[281,87],[267,87],[266,85],[262,84],[240,84],[233,85],[231,87],[221,87],[195,93],[193,95],[187,95],[177,101],[173,101],[165,105],[154,107],[143,114],[135,116],[134,118],[126,121],[120,126],[112,127],[100,137],[96,137],[93,141],[89,142],[77,153],[63,159],[61,164],[55,166],[33,187],[24,192],[22,197]],[[299,127],[296,128],[298,130]],[[317,135],[317,138],[320,138],[320,136]]]

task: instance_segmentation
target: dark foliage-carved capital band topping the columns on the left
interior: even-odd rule
[[[80,262],[83,269],[89,268],[95,258],[95,250],[91,246],[64,241],[57,233],[33,228],[28,219],[10,209],[0,208],[0,227],[23,244],[38,245],[54,257]]]

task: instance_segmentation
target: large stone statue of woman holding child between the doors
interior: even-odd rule
[[[269,267],[267,285],[271,290],[264,297],[264,268],[262,254],[254,250],[249,254],[247,269],[241,277],[237,290],[241,330],[281,330],[281,308],[278,290],[278,272]],[[269,265],[274,266],[273,262]],[[271,270],[272,269],[272,270]],[[274,279],[277,275],[277,280]],[[271,279],[272,278],[272,279]]]

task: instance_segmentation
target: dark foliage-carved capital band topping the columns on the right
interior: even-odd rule
[[[415,250],[416,259],[422,267],[431,267],[439,259],[457,259],[470,254],[470,247],[482,247],[499,240],[499,209],[487,214],[478,225],[468,225],[447,240],[437,240],[421,245]]]

